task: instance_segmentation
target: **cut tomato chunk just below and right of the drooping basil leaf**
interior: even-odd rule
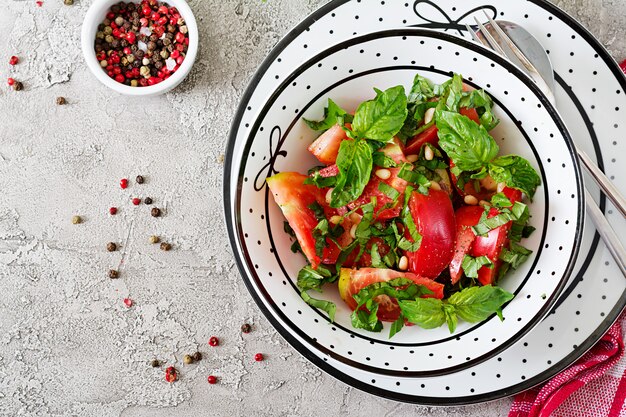
[[[368,204],[372,201],[372,197],[376,197],[376,207],[374,208],[375,220],[388,220],[400,215],[400,210],[402,209],[402,199],[398,199],[393,207],[385,208],[383,210],[385,205],[393,203],[393,199],[387,196],[384,192],[380,191],[378,187],[381,182],[384,182],[402,194],[406,190],[407,182],[398,177],[400,168],[387,169],[391,172],[391,176],[386,180],[378,178],[375,173],[372,174],[372,177],[363,189],[361,196],[348,204],[348,208],[350,210],[354,210],[357,207]]]

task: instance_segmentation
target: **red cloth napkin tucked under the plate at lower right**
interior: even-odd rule
[[[625,332],[626,313],[570,368],[516,395],[509,417],[625,417]]]

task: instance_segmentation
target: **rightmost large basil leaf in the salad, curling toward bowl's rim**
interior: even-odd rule
[[[500,156],[491,161],[488,169],[494,181],[504,182],[508,187],[520,190],[531,200],[541,184],[537,171],[526,159],[518,155]]]

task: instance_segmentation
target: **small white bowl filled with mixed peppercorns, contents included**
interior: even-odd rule
[[[83,23],[83,55],[107,87],[127,95],[167,92],[195,61],[198,29],[182,0],[94,3]]]

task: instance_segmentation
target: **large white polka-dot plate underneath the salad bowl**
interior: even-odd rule
[[[439,0],[436,4],[428,0],[391,0],[382,5],[333,0],[304,19],[277,44],[242,97],[227,150],[234,156],[226,159],[224,175],[231,239],[236,238],[236,231],[232,223],[234,196],[229,192],[238,180],[232,174],[233,167],[268,90],[275,89],[293,69],[329,44],[355,35],[417,26],[471,39],[463,25],[474,24],[473,16],[483,19],[482,10],[492,17],[523,24],[550,51],[557,76],[557,106],[575,142],[626,191],[626,177],[618,175],[619,156],[626,154],[626,141],[620,139],[626,136],[621,113],[626,110],[626,78],[602,44],[552,3],[468,0],[461,5],[457,0]],[[607,205],[597,190],[591,193],[614,229],[626,234],[626,224],[618,212]],[[241,265],[240,269],[243,273]],[[325,372],[372,394],[421,404],[468,404],[513,395],[553,377],[596,343],[625,304],[626,280],[593,229],[593,223],[588,221],[575,273],[554,314],[509,349],[473,367],[436,377],[385,375],[356,369],[324,352],[304,349],[306,341],[297,335],[290,342]],[[284,324],[280,318],[275,319]]]

